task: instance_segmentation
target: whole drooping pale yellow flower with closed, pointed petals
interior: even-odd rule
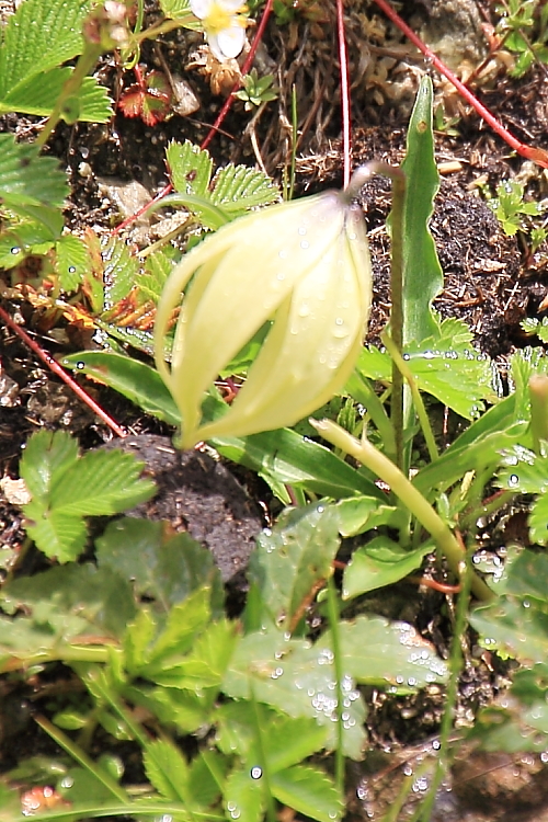
[[[168,368],[165,331],[193,275]],[[156,321],[156,362],[181,411],[182,447],[294,425],[327,402],[352,373],[370,298],[363,214],[343,193],[254,212],[206,238],[173,270]],[[267,321],[231,407],[201,425],[205,390]]]

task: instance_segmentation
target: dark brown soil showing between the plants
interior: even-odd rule
[[[148,23],[151,23],[156,12],[153,4],[149,5]],[[434,27],[442,25],[443,0],[418,0],[406,5],[407,19],[418,28],[429,23]],[[355,165],[373,158],[390,162],[402,159],[410,105],[424,69],[422,58],[411,49],[402,61],[390,57],[395,48],[402,48],[403,41],[372,7],[357,0],[347,4]],[[461,8],[468,10],[472,21],[476,21],[475,15],[482,21],[491,19],[492,10],[487,1],[467,0]],[[290,89],[295,83],[300,134],[299,193],[340,185],[342,159],[334,10],[320,4],[320,12],[318,20],[297,16],[296,22],[286,27],[272,23],[261,59],[266,60],[267,66],[270,60],[273,68],[269,70],[277,72],[279,99],[269,104],[252,125],[243,106],[235,105],[222,133],[210,147],[216,163],[254,163],[253,137],[266,170],[279,179],[281,167],[287,165],[289,158],[287,123]],[[370,48],[364,46],[367,44],[364,31],[370,33]],[[477,44],[471,41],[477,34],[473,28],[465,28],[463,35],[465,39],[471,38],[472,54]],[[198,44],[193,36],[178,32],[165,37],[161,45],[146,45],[142,61],[155,68],[167,61],[172,72],[180,73],[181,66],[189,61],[189,54]],[[369,60],[365,69],[364,48]],[[469,55],[466,59],[470,59]],[[107,60],[101,72],[114,96],[119,91],[121,80],[123,83],[133,81],[121,78],[119,71]],[[112,190],[111,194],[104,193],[105,178],[111,183],[113,178],[118,182],[137,181],[153,196],[168,183],[164,167],[168,142],[185,138],[199,142],[205,137],[206,124],[215,118],[221,99],[213,95],[210,78],[196,70],[185,76],[202,100],[199,111],[191,117],[174,114],[165,123],[150,128],[118,113],[107,126],[61,125],[57,128],[49,150],[70,171],[72,195],[66,216],[72,230],[91,226],[99,232],[107,232],[119,222]],[[436,136],[438,162],[454,170],[444,175],[432,219],[432,232],[445,274],[445,289],[435,307],[443,317],[464,319],[473,332],[477,346],[503,365],[516,346],[537,342],[524,336],[521,322],[526,317],[543,316],[548,294],[548,249],[541,248],[530,259],[518,239],[506,237],[481,197],[480,184],[494,192],[501,180],[520,174],[527,195],[541,198],[546,195],[547,178],[541,170],[529,168],[523,159],[512,156],[500,138],[494,137],[445,83],[437,79],[435,82],[437,99],[445,95],[447,106],[454,105],[460,115],[458,136]],[[546,145],[548,83],[544,69],[535,67],[525,79],[512,80],[501,64],[489,81],[480,85],[478,94],[517,137],[532,145]],[[37,129],[35,118],[16,115],[0,118],[0,130],[13,132],[21,139],[33,138]],[[380,178],[372,179],[362,192],[362,199],[375,277],[369,340],[377,341],[390,309],[389,240],[385,229],[390,209],[389,183]],[[145,235],[151,230],[148,222],[141,228]],[[133,240],[135,237],[132,235]],[[39,310],[14,298],[7,286],[8,278],[2,279],[0,275],[2,307],[53,356],[80,347],[80,341],[73,341],[70,329],[62,324],[61,333],[56,333],[55,329],[53,333],[50,329],[45,331]],[[107,443],[107,447],[136,450],[161,490],[151,502],[136,510],[135,515],[167,520],[174,529],[189,530],[207,545],[224,580],[231,585],[231,602],[237,609],[244,596],[246,562],[253,537],[264,524],[263,512],[271,509],[270,496],[256,481],[244,490],[248,478],[242,472],[235,477],[230,466],[206,454],[178,454],[170,445],[172,432],[168,426],[147,418],[106,388],[88,388],[135,436],[111,442],[112,434],[106,426],[36,361],[11,330],[0,327],[0,476],[19,476],[21,448],[39,427],[69,431],[79,437],[83,448]],[[5,493],[0,493],[0,569],[9,569],[15,561],[24,539],[20,506],[8,499]],[[523,520],[517,530],[517,537],[525,541]],[[487,535],[482,547],[496,556],[500,543],[500,536],[491,543]],[[22,570],[33,572],[39,562],[31,551]],[[443,576],[443,570],[433,568],[433,572]],[[416,587],[410,596],[409,583],[401,583],[381,598],[384,602],[366,597],[359,605],[391,618],[412,621],[443,657],[447,655],[453,626],[450,596],[422,589],[418,595]],[[506,665],[480,658],[473,637],[464,641],[466,667],[460,682],[459,727],[469,724],[478,708],[495,699],[507,684]],[[66,674],[65,670],[57,670],[59,687]],[[35,687],[39,690],[44,686],[38,677]],[[26,683],[21,685],[20,692],[13,683],[2,685],[0,695],[7,699],[3,710],[9,718],[0,722],[0,773],[13,764],[14,740],[18,740],[21,757],[32,753],[36,745],[36,733],[28,731],[31,712],[27,707],[33,687]],[[353,786],[352,797],[349,797],[349,819],[352,820],[381,819],[406,777],[415,779],[415,798],[424,795],[430,779],[429,757],[436,752],[435,734],[444,701],[436,688],[404,699],[372,690],[367,700],[372,751],[365,763],[352,765],[349,773]],[[47,747],[43,734],[39,733],[38,739],[38,749]],[[449,787],[453,788],[450,794]],[[538,822],[548,819],[546,765],[538,757],[525,762],[504,755],[503,761],[499,761],[463,754],[453,769],[453,781],[445,788],[447,791],[439,795],[433,820]],[[410,814],[412,803],[401,819],[409,818],[408,810]]]

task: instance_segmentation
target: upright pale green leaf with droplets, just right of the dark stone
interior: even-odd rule
[[[256,543],[249,580],[261,591],[270,621],[289,630],[310,591],[331,574],[340,545],[336,511],[329,505],[288,510]]]

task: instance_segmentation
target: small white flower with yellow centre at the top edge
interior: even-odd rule
[[[212,54],[220,62],[238,57],[246,43],[247,8],[241,0],[191,0]]]

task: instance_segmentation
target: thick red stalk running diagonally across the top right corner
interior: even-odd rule
[[[468,89],[464,84],[464,82],[461,82],[458,77],[456,77],[453,71],[447,68],[447,66],[439,59],[439,57],[437,57],[434,52],[432,52],[432,49],[430,49],[426,44],[422,42],[422,39],[413,32],[413,30],[403,22],[400,15],[397,14],[397,12],[392,9],[388,0],[375,0],[375,2],[385,12],[387,18],[389,18],[392,23],[396,23],[398,28],[403,32],[406,37],[408,37],[411,43],[413,43],[413,45],[415,45],[416,48],[419,48],[423,53],[423,55],[425,55],[425,57],[427,57],[429,60],[432,61],[432,65],[439,71],[439,73],[446,77],[450,83],[453,83],[453,85],[465,98],[465,100],[478,112],[480,117],[482,117],[486,123],[489,123],[493,132],[495,132],[499,137],[502,137],[502,139],[522,157],[527,158],[527,160],[533,160],[533,162],[536,162],[544,169],[548,169],[548,151],[545,151],[541,148],[527,146],[525,142],[518,140],[517,137],[514,137],[514,135],[510,134],[510,132],[507,132],[504,126],[496,119],[494,114],[491,114],[489,109],[486,109],[486,106],[480,103],[478,98],[472,94],[470,89]]]

